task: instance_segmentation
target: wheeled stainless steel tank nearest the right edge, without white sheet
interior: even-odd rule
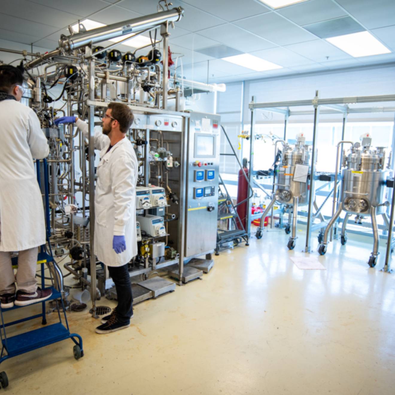
[[[372,139],[361,136],[362,143],[353,144],[351,141],[340,141],[337,145],[336,169],[339,163],[339,148],[342,144],[350,143],[351,148],[346,154],[342,154],[342,183],[340,199],[337,210],[329,221],[324,232],[324,239],[318,247],[320,255],[324,255],[328,245],[328,234],[333,224],[339,218],[342,211],[346,212],[341,231],[341,243],[347,242],[346,226],[348,218],[355,215],[355,222],[361,223],[363,218],[370,217],[373,229],[373,251],[369,258],[370,267],[376,266],[378,256],[378,227],[376,215],[382,215],[387,230],[389,228],[389,218],[387,216],[388,189],[387,179],[391,175],[391,154],[386,163],[385,147],[371,147]],[[337,174],[336,174],[337,175]],[[333,196],[333,207],[335,207],[336,193]]]

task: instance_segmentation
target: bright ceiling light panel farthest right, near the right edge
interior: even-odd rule
[[[387,47],[369,32],[346,34],[344,36],[327,38],[326,40],[348,53],[348,55],[354,56],[354,58],[391,53]]]

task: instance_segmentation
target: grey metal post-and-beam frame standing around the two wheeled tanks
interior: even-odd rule
[[[316,95],[317,96],[317,95]],[[347,121],[347,115],[350,113],[369,113],[373,112],[373,109],[368,107],[368,108],[349,108],[348,104],[357,104],[357,103],[378,103],[378,102],[395,102],[395,95],[380,95],[380,96],[355,96],[355,97],[345,97],[345,98],[328,98],[328,99],[319,99],[319,98],[314,98],[313,100],[296,100],[292,102],[270,102],[270,103],[257,103],[252,100],[252,102],[249,104],[249,108],[251,110],[251,141],[250,141],[250,150],[253,152],[253,132],[254,132],[254,110],[256,109],[261,109],[265,111],[271,111],[273,113],[282,113],[286,115],[288,113],[288,117],[291,115],[310,115],[314,114],[314,134],[313,134],[313,152],[312,152],[312,179],[314,178],[314,161],[315,161],[315,138],[316,138],[316,126],[318,124],[318,109],[320,106],[327,107],[326,110],[320,111],[321,114],[339,114],[339,112],[343,113],[343,127],[342,127],[342,142],[344,142],[344,131],[346,128],[346,121]],[[314,111],[290,111],[289,107],[303,107],[303,106],[314,106]],[[287,107],[286,109],[282,109],[279,107]],[[380,112],[395,112],[395,107],[382,107],[380,109]],[[287,120],[288,121],[288,120]],[[395,127],[394,127],[395,129]],[[394,130],[395,134],[395,130]],[[392,152],[394,153],[395,151],[395,138],[393,136],[393,146],[392,146]],[[250,152],[250,157],[251,157],[251,152]],[[393,154],[392,157],[392,163],[395,164],[395,155]],[[251,177],[251,176],[250,176]],[[395,175],[394,175],[395,177]],[[313,181],[313,182],[311,182]],[[334,194],[336,194],[336,181],[337,181],[337,172],[335,175],[335,191]],[[307,218],[307,235],[306,235],[306,248],[305,252],[309,252],[310,248],[310,219],[311,219],[311,207],[312,207],[312,194],[314,193],[314,190],[312,190],[312,186],[314,186],[314,180],[310,180],[310,198],[309,198],[309,212],[308,212],[308,218]],[[395,191],[393,191],[395,192]],[[391,270],[389,269],[389,260],[390,260],[390,253],[391,253],[391,241],[392,241],[392,234],[393,234],[393,221],[394,221],[394,207],[395,205],[395,193],[393,193],[392,196],[392,205],[391,205],[391,215],[390,215],[390,224],[391,226],[389,227],[388,231],[388,241],[387,241],[387,253],[386,253],[386,263],[384,266],[384,271],[387,273],[390,273]],[[339,211],[339,202],[337,204],[337,211]],[[339,213],[340,214],[340,213]],[[332,223],[333,225],[333,223]]]

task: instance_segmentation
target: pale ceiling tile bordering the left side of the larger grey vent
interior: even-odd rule
[[[235,24],[278,45],[301,43],[316,38],[313,34],[273,12],[236,21]]]

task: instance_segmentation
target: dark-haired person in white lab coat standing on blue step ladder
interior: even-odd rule
[[[38,246],[45,244],[43,199],[33,158],[49,154],[40,120],[20,103],[23,74],[0,66],[0,299],[2,308],[43,301],[51,290],[37,287]],[[19,252],[16,282],[11,252]]]

